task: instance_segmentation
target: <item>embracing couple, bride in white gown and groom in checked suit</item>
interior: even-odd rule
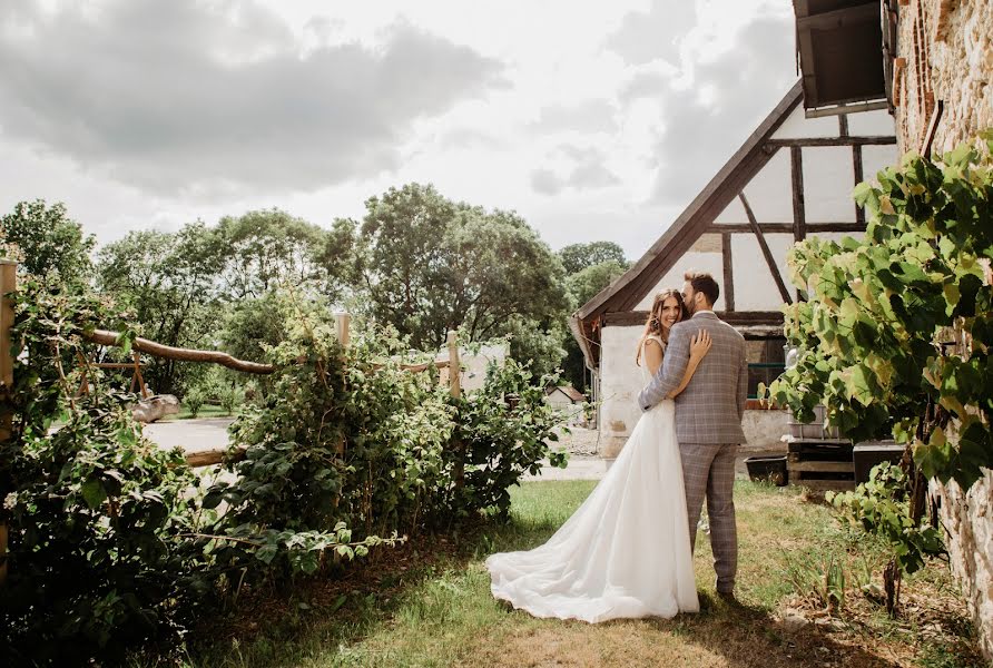
[[[548,542],[486,559],[498,599],[589,622],[697,612],[692,552],[705,497],[717,592],[734,599],[745,340],[714,314],[717,282],[685,278],[681,294],[655,297],[636,352],[643,414],[621,454]]]

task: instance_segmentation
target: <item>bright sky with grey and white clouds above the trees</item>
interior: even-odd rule
[[[391,186],[639,257],[796,79],[789,0],[3,0],[0,210],[101,243]]]

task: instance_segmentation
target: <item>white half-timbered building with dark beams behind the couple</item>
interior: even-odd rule
[[[572,318],[599,411],[600,451],[616,456],[640,416],[635,350],[656,293],[682,287],[688,268],[720,284],[715,308],[747,340],[749,384],[783,370],[784,303],[794,301],[786,253],[808,236],[865,230],[852,189],[896,159],[886,110],[806,118],[799,82],[651,248]],[[770,102],[773,107],[775,102]],[[785,411],[749,402],[746,448],[784,448]]]

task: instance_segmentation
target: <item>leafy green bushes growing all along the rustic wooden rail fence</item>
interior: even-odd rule
[[[494,367],[480,401],[504,409],[475,414],[475,399],[453,402],[436,376],[402,372],[399,341],[368,330],[344,350],[319,303],[279,301],[277,314],[286,334],[266,352],[273,392],[233,429],[247,448],[228,464],[237,478],[212,484],[141,438],[126,410],[135,397],[115,379],[90,369],[89,394],[75,395],[86,330],[117,328],[125,350],[135,336],[114,304],[23,283],[14,424],[0,450],[4,656],[62,666],[180,638],[246,588],[334,576],[401,533],[505,513],[501,487],[551,454],[541,439],[554,413],[527,369]],[[452,448],[456,426],[465,445]],[[478,475],[471,458],[489,443],[501,456]]]

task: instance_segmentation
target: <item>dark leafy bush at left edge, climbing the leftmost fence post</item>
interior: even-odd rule
[[[13,421],[0,443],[3,656],[59,666],[112,657],[181,633],[239,582],[309,573],[327,552],[351,559],[394,542],[353,541],[341,520],[275,529],[218,513],[183,454],[141,436],[126,407],[134,395],[90,370],[90,393],[71,396],[77,356],[90,353],[86,330],[124,332],[125,348],[135,336],[114,305],[32,277],[16,299]],[[265,499],[257,508],[276,515]]]

